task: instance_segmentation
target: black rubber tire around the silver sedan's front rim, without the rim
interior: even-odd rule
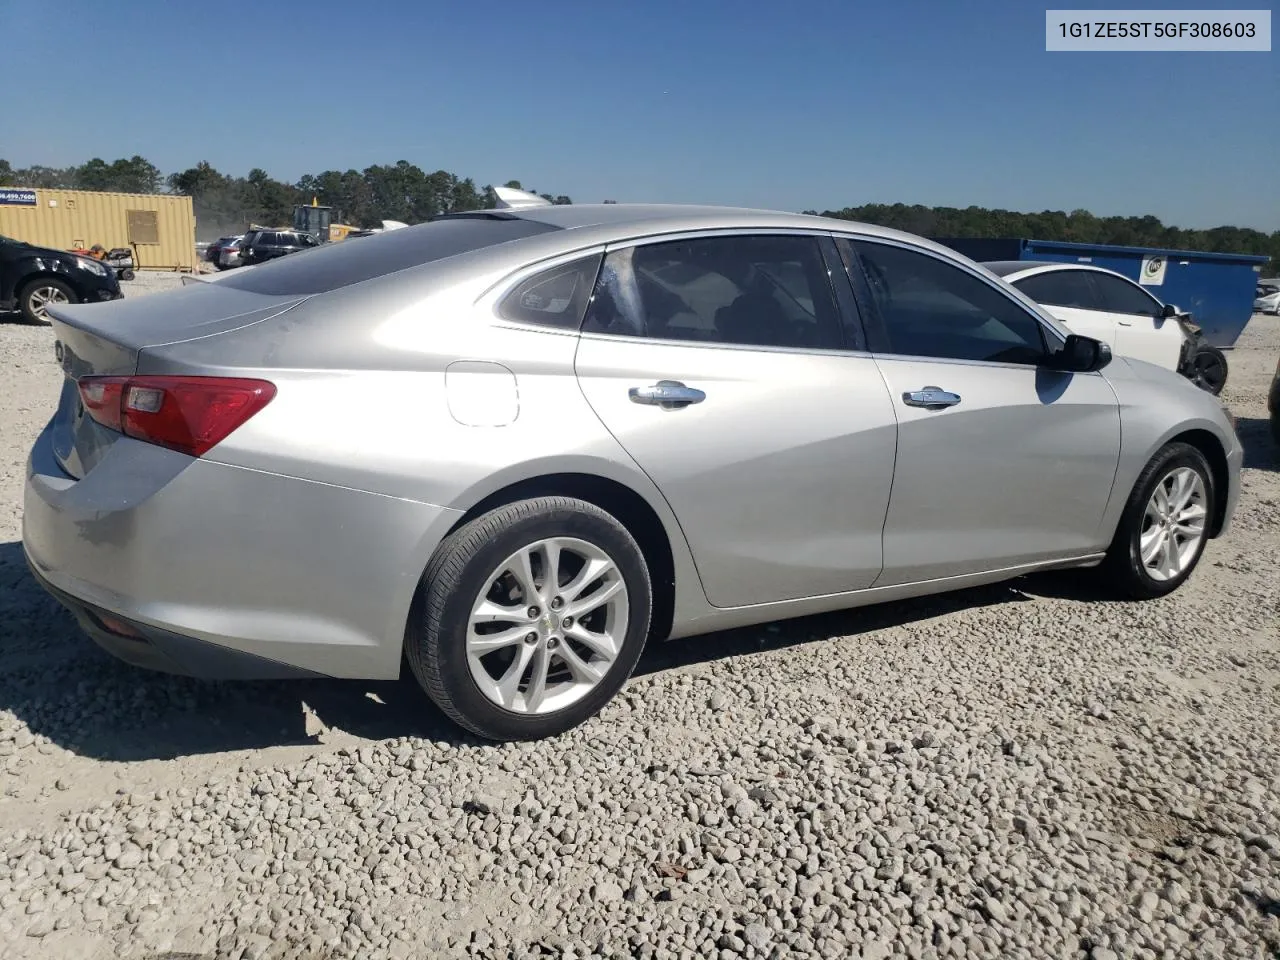
[[[1204,535],[1187,568],[1169,580],[1157,580],[1147,572],[1142,562],[1139,540],[1143,517],[1156,485],[1178,467],[1190,467],[1199,474],[1201,481],[1204,484],[1208,516],[1206,517]],[[1165,444],[1138,475],[1138,481],[1133,485],[1124,513],[1120,515],[1115,538],[1111,540],[1111,547],[1107,549],[1106,559],[1098,567],[1098,572],[1112,590],[1129,599],[1149,600],[1171,594],[1187,581],[1204,554],[1216,503],[1217,490],[1213,488],[1213,471],[1210,470],[1204,454],[1189,443]]]

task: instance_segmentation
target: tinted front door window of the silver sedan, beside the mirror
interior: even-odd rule
[[[1044,358],[1039,320],[973,274],[887,243],[840,243],[865,275],[879,317],[877,351],[997,364]]]

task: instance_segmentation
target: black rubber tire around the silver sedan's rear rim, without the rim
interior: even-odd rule
[[[545,538],[572,536],[603,549],[627,588],[630,616],[622,649],[580,700],[544,714],[504,709],[471,676],[466,636],[471,607],[503,561]],[[421,613],[406,631],[406,658],[428,696],[457,724],[489,740],[557,736],[595,716],[635,669],[649,634],[653,589],[635,538],[595,504],[539,497],[498,507],[447,536],[424,575]]]

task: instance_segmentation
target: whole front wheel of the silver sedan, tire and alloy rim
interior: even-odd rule
[[[1204,454],[1188,443],[1166,444],[1138,476],[1100,571],[1133,599],[1172,593],[1204,552],[1213,497]]]

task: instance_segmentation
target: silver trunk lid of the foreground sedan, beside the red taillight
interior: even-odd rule
[[[77,480],[83,477],[120,439],[86,415],[78,387],[82,378],[132,375],[138,355],[148,347],[230,333],[303,300],[192,283],[150,297],[50,310],[54,357],[64,375],[52,422],[54,456],[63,470]]]

